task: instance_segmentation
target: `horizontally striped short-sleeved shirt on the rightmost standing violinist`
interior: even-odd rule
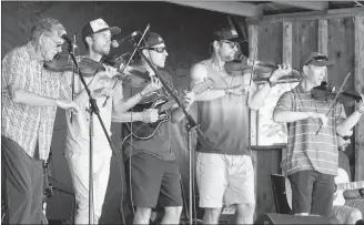
[[[327,114],[332,101],[313,100],[310,92],[300,85],[280,98],[275,110],[315,112]],[[293,174],[300,171],[317,171],[323,174],[337,174],[336,126],[346,119],[344,106],[337,103],[327,115],[328,123],[320,133],[316,120],[305,119],[287,123],[289,143],[283,168]]]

